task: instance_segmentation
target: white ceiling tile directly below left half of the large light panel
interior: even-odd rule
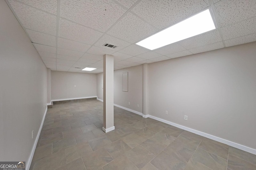
[[[153,51],[156,53],[159,53],[161,55],[168,55],[168,54],[177,53],[177,52],[184,51],[184,50],[186,50],[186,49],[180,45],[180,42],[177,42],[177,43],[173,43],[170,45],[166,45],[159,49],[155,49]]]

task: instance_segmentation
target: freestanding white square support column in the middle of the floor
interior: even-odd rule
[[[114,130],[114,56],[103,56],[103,127],[107,133]]]

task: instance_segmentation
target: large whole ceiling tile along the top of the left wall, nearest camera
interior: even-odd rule
[[[21,24],[28,29],[56,35],[57,17],[14,0],[9,0]]]

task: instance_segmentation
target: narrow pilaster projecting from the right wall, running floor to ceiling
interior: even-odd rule
[[[148,117],[148,63],[143,64],[143,115]]]

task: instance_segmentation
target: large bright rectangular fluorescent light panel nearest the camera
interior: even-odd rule
[[[164,29],[138,43],[142,47],[154,50],[183,39],[205,33],[215,29],[214,21],[210,10],[205,10],[184,21],[181,21],[171,27]]]

